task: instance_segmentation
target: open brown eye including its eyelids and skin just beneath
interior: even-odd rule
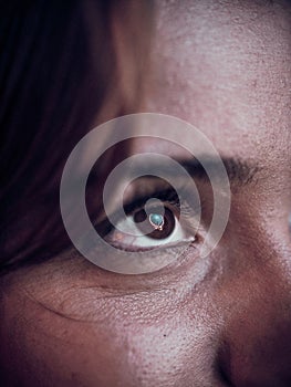
[[[133,180],[124,201],[114,201],[118,191],[113,194],[110,211],[104,208],[93,221],[101,238],[95,245],[86,244],[91,262],[115,273],[143,274],[181,262],[188,251],[199,255],[202,203],[191,182],[180,180],[173,187],[143,177]]]

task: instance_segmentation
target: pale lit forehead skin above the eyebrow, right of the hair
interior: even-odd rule
[[[290,160],[291,7],[160,1],[148,107],[190,122],[219,151]],[[270,160],[271,161],[271,160]]]

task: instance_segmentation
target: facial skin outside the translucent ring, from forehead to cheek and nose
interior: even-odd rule
[[[73,250],[8,274],[7,385],[290,386],[291,8],[160,1],[156,22],[145,109],[187,121],[235,160],[224,237],[206,259],[193,247],[149,274]],[[141,150],[187,158],[153,139]]]

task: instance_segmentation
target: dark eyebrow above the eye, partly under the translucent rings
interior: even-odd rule
[[[209,181],[207,170],[211,170],[214,172],[217,170],[217,172],[219,174],[219,171],[221,170],[221,160],[224,163],[231,185],[249,185],[254,180],[254,177],[259,171],[259,167],[253,165],[252,163],[236,159],[232,157],[221,158],[221,160],[205,157],[200,158],[200,161],[195,158],[173,159],[177,161],[180,165],[180,167],[184,168],[193,178],[204,181]],[[167,163],[157,164],[156,161],[146,163],[146,165],[137,164],[136,166],[134,166],[132,172],[135,174],[136,171],[138,171],[139,176],[155,176],[154,172],[148,174],[148,169],[150,169],[152,171],[157,170],[158,172],[165,174],[165,176],[179,176],[178,170],[172,168],[172,166],[167,165]]]

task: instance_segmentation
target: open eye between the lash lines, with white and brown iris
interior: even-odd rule
[[[146,207],[153,198],[159,199],[162,207]],[[117,217],[115,227],[111,224],[103,238],[116,249],[131,252],[189,244],[195,241],[197,228],[194,211],[186,201],[180,206],[173,189],[156,191],[125,206],[126,216]]]

